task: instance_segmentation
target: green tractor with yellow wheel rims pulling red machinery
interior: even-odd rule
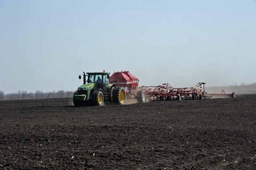
[[[109,75],[110,72],[105,72],[105,70],[103,72],[87,72],[86,75],[83,72],[83,85],[79,86],[73,95],[74,106],[101,106],[104,103],[124,105],[126,91],[122,86],[115,86],[109,82]],[[81,75],[79,75],[79,79],[81,79]]]

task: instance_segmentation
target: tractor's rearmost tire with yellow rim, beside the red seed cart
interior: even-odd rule
[[[122,86],[113,89],[112,99],[115,104],[124,105],[126,102],[126,91]]]

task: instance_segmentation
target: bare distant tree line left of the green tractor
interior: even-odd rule
[[[5,94],[4,91],[0,91],[0,100],[29,100],[29,99],[47,99],[47,98],[71,98],[74,91],[50,91],[44,93],[42,90],[36,90],[36,92],[17,91],[13,93]]]

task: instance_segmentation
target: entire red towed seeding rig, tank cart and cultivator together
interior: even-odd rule
[[[236,93],[225,93],[224,90],[221,94],[205,92],[204,82],[199,82],[194,87],[173,88],[170,84],[164,83],[160,86],[140,86],[139,79],[128,71],[114,72],[109,77],[110,82],[116,86],[123,86],[126,91],[126,98],[137,98],[138,102],[145,102],[148,99],[153,100],[180,100],[185,99],[199,99],[211,97],[235,97]]]

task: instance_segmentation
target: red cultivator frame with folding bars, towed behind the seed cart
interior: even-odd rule
[[[180,100],[181,98],[201,100],[206,97],[204,84],[200,82],[194,87],[173,88],[170,84],[164,83],[162,86],[140,86],[137,88],[144,90],[147,98],[151,100]]]

